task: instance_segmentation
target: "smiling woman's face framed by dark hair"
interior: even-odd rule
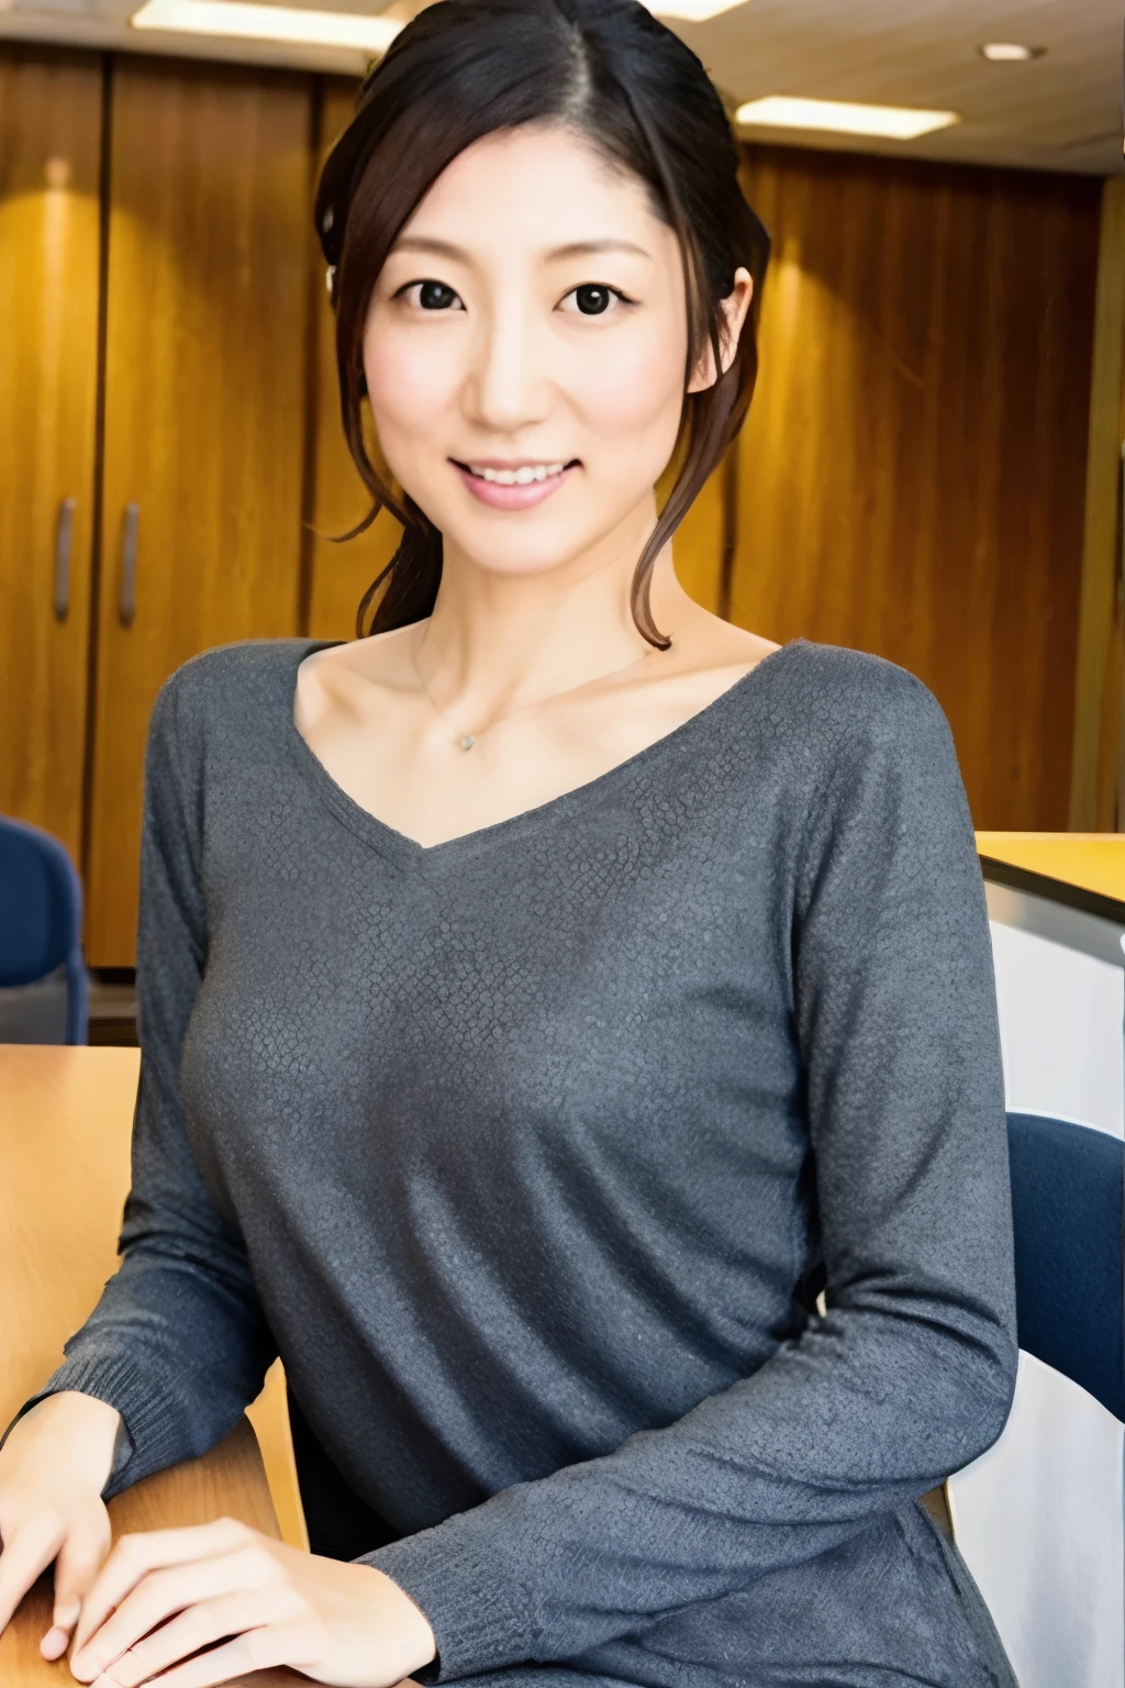
[[[538,574],[634,540],[680,427],[676,238],[573,132],[487,135],[403,228],[363,358],[391,474],[447,554]]]

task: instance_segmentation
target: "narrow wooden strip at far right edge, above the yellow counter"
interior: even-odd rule
[[[1101,191],[1069,807],[1073,827],[1106,830],[1122,824],[1118,741],[1125,675],[1125,606],[1120,603],[1117,581],[1118,547],[1125,542],[1118,530],[1123,441],[1125,181],[1115,177],[1105,182]]]

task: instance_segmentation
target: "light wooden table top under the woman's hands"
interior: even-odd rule
[[[0,1431],[56,1369],[116,1269],[138,1062],[126,1048],[0,1045]],[[204,1458],[110,1504],[116,1533],[224,1514],[280,1534],[246,1420]],[[3,1688],[74,1688],[66,1661],[39,1653],[49,1627],[51,1582],[40,1578],[0,1636]],[[248,1678],[255,1688],[302,1681],[290,1671]]]

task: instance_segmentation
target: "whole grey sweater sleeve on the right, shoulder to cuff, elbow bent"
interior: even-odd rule
[[[666,1428],[369,1555],[430,1619],[440,1680],[577,1658],[813,1560],[1004,1426],[1010,1197],[968,809],[918,682],[872,663],[857,716],[842,694],[811,724],[832,771],[786,939],[826,1317]]]

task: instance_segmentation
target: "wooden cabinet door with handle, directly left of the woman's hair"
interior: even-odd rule
[[[135,952],[142,768],[162,682],[297,631],[305,78],[118,61],[86,954]]]

